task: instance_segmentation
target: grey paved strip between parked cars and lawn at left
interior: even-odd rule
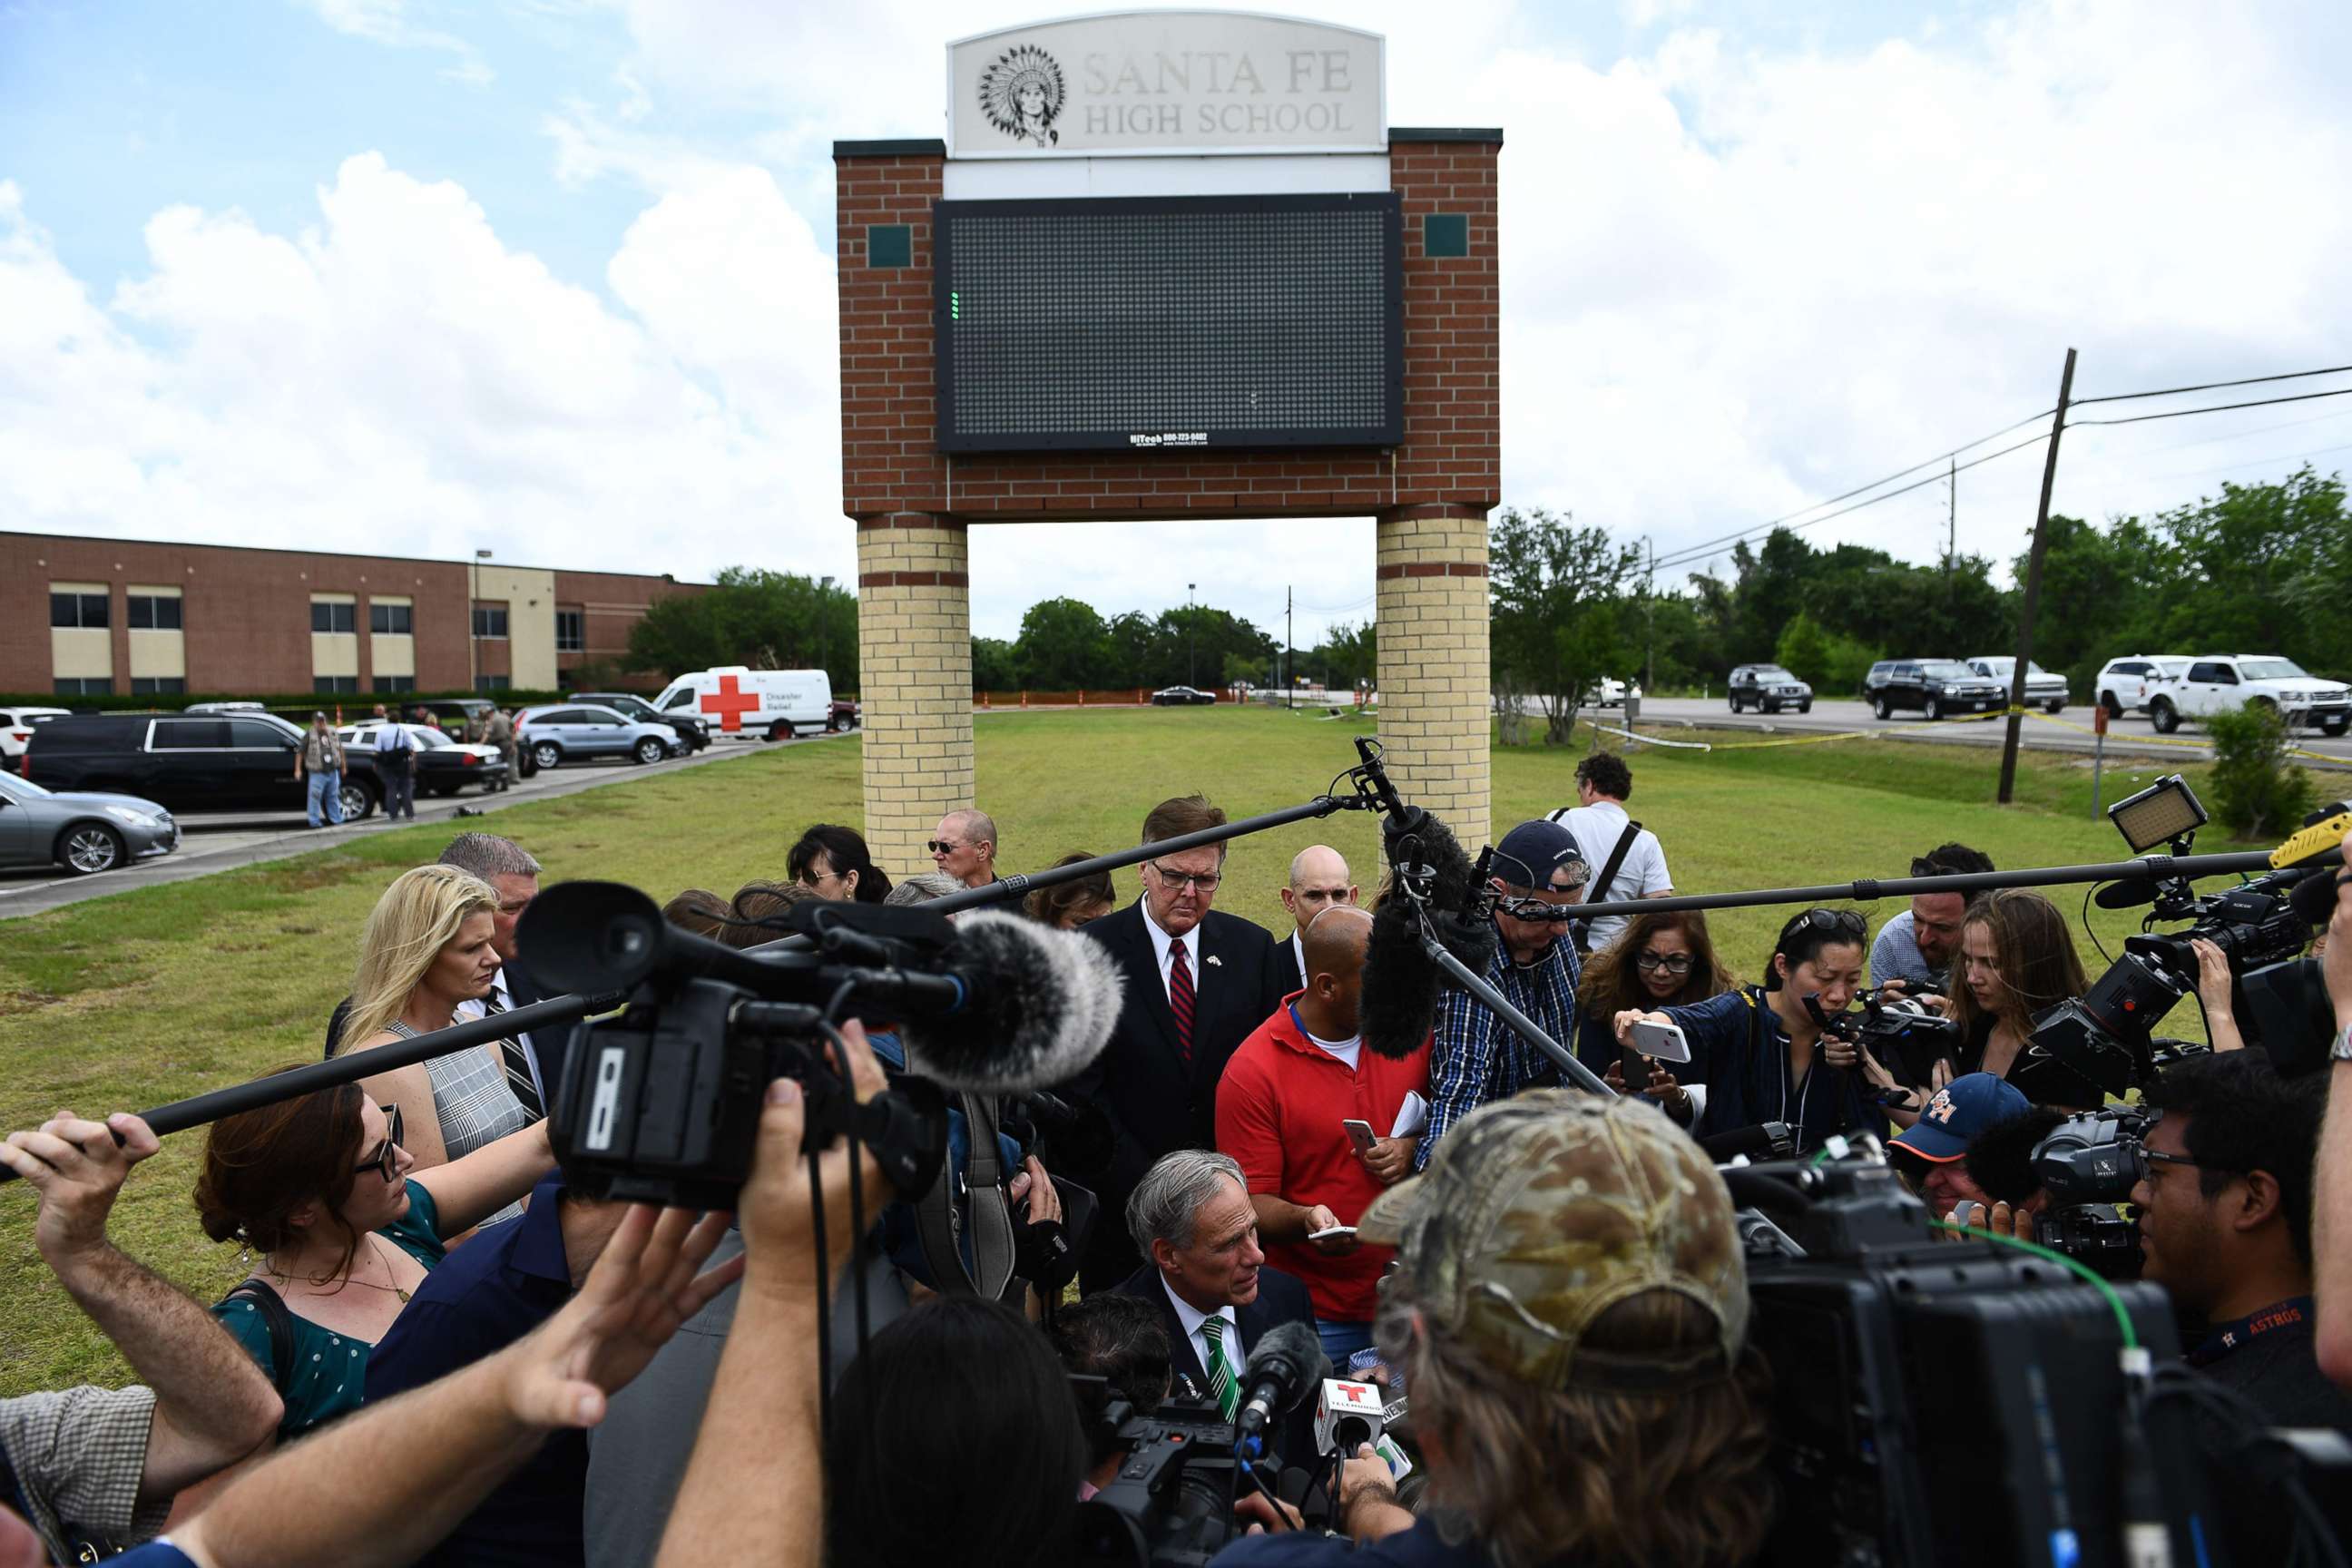
[[[828,738],[830,736],[804,736],[800,741],[779,741],[776,745],[811,745]],[[454,820],[459,806],[499,813],[506,806],[522,806],[534,799],[555,799],[560,795],[579,795],[581,790],[597,790],[602,785],[628,783],[633,778],[696,769],[710,762],[724,762],[727,757],[748,757],[760,750],[760,745],[762,743],[757,741],[713,741],[706,750],[694,752],[691,757],[673,757],[668,762],[656,762],[649,769],[621,759],[574,762],[560,769],[543,769],[536,778],[517,780],[515,788],[503,795],[468,790],[447,799],[419,799],[416,820]],[[477,825],[475,818],[463,820],[468,827]],[[348,844],[350,839],[383,832],[388,825],[390,823],[383,820],[383,811],[376,811],[365,823],[318,830],[303,823],[301,811],[188,811],[179,816],[181,839],[176,851],[155,860],[139,860],[120,872],[66,877],[59,875],[56,867],[0,870],[0,919],[9,919],[14,914],[38,914],[40,910],[54,910],[85,898],[106,898],[108,893],[127,893],[160,882],[209,877],[212,872],[254,865],[259,860],[285,860],[287,856],[308,853],[313,849],[332,849],[334,844]],[[407,823],[402,823],[402,827],[407,827]]]

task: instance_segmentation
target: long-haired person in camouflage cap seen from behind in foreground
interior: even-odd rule
[[[1663,1199],[1661,1194],[1672,1194]],[[1465,1117],[1364,1213],[1402,1267],[1376,1335],[1404,1371],[1432,1509],[1357,1458],[1334,1540],[1277,1528],[1258,1563],[1748,1561],[1764,1540],[1759,1361],[1731,1194],[1663,1112],[1541,1088]]]

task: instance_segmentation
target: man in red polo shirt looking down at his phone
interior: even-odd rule
[[[1364,1051],[1357,1004],[1371,914],[1334,907],[1301,938],[1305,990],[1258,1025],[1216,1086],[1216,1147],[1242,1166],[1258,1241],[1268,1260],[1308,1284],[1315,1326],[1334,1366],[1371,1345],[1371,1309],[1390,1248],[1357,1246],[1352,1227],[1374,1197],[1414,1171],[1416,1124],[1397,1138],[1397,1117],[1416,1095],[1425,1117],[1430,1048],[1390,1060]],[[1357,1152],[1345,1121],[1369,1121],[1374,1145]]]

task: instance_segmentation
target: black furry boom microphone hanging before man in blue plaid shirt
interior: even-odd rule
[[[1421,947],[1421,903],[1406,882],[1428,884],[1430,929],[1470,973],[1494,961],[1494,922],[1475,914],[1482,889],[1470,856],[1435,816],[1411,809],[1388,818],[1390,886],[1364,943],[1364,1048],[1402,1060],[1437,1027],[1444,973]]]

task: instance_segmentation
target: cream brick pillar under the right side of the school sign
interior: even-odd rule
[[[1486,764],[1486,515],[1378,515],[1381,745],[1397,792],[1472,856],[1491,842]]]

